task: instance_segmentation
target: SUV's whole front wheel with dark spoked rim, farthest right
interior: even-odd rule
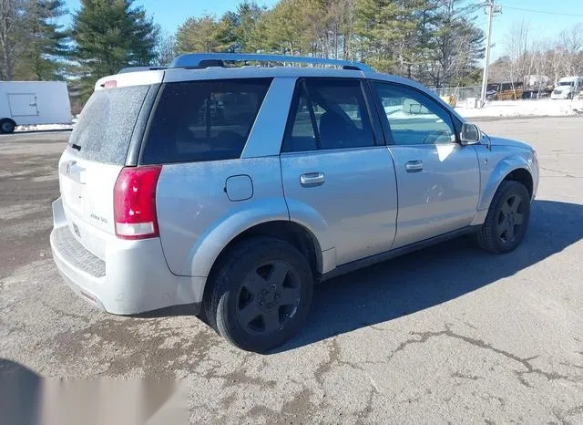
[[[490,253],[509,253],[524,239],[529,219],[527,188],[518,181],[502,181],[490,203],[486,221],[476,232],[477,244]]]

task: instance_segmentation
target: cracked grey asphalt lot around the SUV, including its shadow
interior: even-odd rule
[[[0,136],[0,373],[179,378],[200,423],[583,423],[583,117],[478,124],[538,150],[517,251],[461,238],[333,279],[265,356],[179,311],[111,316],[73,295],[48,245],[68,133]]]

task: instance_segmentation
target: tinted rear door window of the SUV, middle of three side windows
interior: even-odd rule
[[[360,80],[313,78],[298,84],[282,151],[374,146]]]

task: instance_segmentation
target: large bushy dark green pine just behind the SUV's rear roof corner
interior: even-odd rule
[[[147,66],[156,57],[159,28],[134,0],[81,0],[71,31],[76,46],[81,97],[98,78],[123,67]]]

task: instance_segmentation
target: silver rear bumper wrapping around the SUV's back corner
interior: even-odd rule
[[[199,314],[205,278],[173,275],[159,238],[107,242],[102,261],[69,230],[63,204],[53,202],[50,235],[56,267],[68,286],[89,303],[116,315],[135,315],[189,304]]]

